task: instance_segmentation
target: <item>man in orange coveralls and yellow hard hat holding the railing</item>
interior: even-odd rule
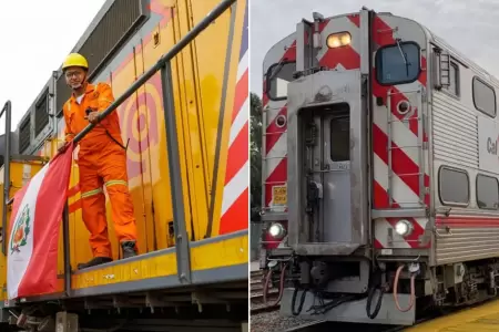
[[[108,108],[114,96],[105,83],[90,84],[86,81],[89,64],[81,54],[71,53],[62,71],[65,82],[72,89],[71,97],[63,106],[65,120],[65,144],[91,123],[95,127],[80,141],[78,166],[83,222],[90,231],[93,259],[78,264],[84,269],[112,261],[111,242],[105,218],[105,186],[112,207],[114,230],[123,249],[123,258],[136,256],[136,226],[132,198],[129,193],[126,154],[121,138],[118,113],[112,112],[99,120],[100,112]]]

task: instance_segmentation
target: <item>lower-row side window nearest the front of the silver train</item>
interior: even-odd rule
[[[468,205],[469,177],[466,172],[442,166],[438,183],[444,205]]]

